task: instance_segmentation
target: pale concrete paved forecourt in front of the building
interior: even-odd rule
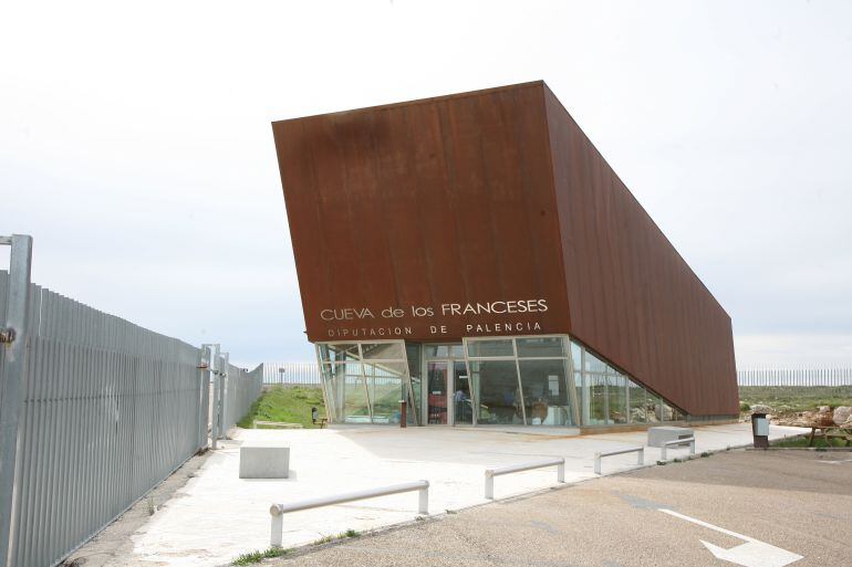
[[[802,431],[772,426],[770,438]],[[596,451],[644,444],[645,440],[645,432],[557,437],[446,427],[236,430],[235,440],[207,458],[195,476],[131,536],[129,557],[105,565],[222,565],[241,553],[269,547],[269,506],[273,502],[426,479],[432,484],[429,511],[443,513],[487,502],[486,468],[564,456],[565,480],[576,482],[596,476]],[[290,447],[290,479],[240,480],[239,445],[247,441]],[[751,427],[696,428],[696,441],[698,453],[745,445],[751,441]],[[687,453],[687,449],[669,450],[669,459]],[[646,448],[647,463],[658,458],[658,449]],[[604,473],[634,469],[635,460],[635,453],[609,458]],[[500,476],[495,481],[495,496],[544,489],[555,483],[555,476],[554,469]],[[411,521],[416,515],[416,493],[288,514],[283,545]],[[85,549],[75,554],[80,555]]]

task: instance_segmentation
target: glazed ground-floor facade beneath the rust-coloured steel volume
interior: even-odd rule
[[[316,345],[334,423],[607,427],[686,414],[568,336]]]

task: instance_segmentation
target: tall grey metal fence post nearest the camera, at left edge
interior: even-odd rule
[[[6,351],[0,368],[0,567],[6,567],[11,564],[17,524],[19,416],[27,379],[32,237],[0,237],[0,244],[12,249],[6,322],[0,328],[0,348]]]

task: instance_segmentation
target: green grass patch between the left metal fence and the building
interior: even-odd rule
[[[260,420],[301,423],[305,429],[319,428],[319,424],[311,423],[311,408],[316,408],[321,418],[325,417],[320,388],[272,386],[251,405],[249,413],[237,424],[251,429],[254,420]]]

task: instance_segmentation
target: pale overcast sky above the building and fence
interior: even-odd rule
[[[270,122],[543,78],[738,366],[852,364],[852,2],[28,0],[0,62],[33,280],[237,363],[313,358]]]

